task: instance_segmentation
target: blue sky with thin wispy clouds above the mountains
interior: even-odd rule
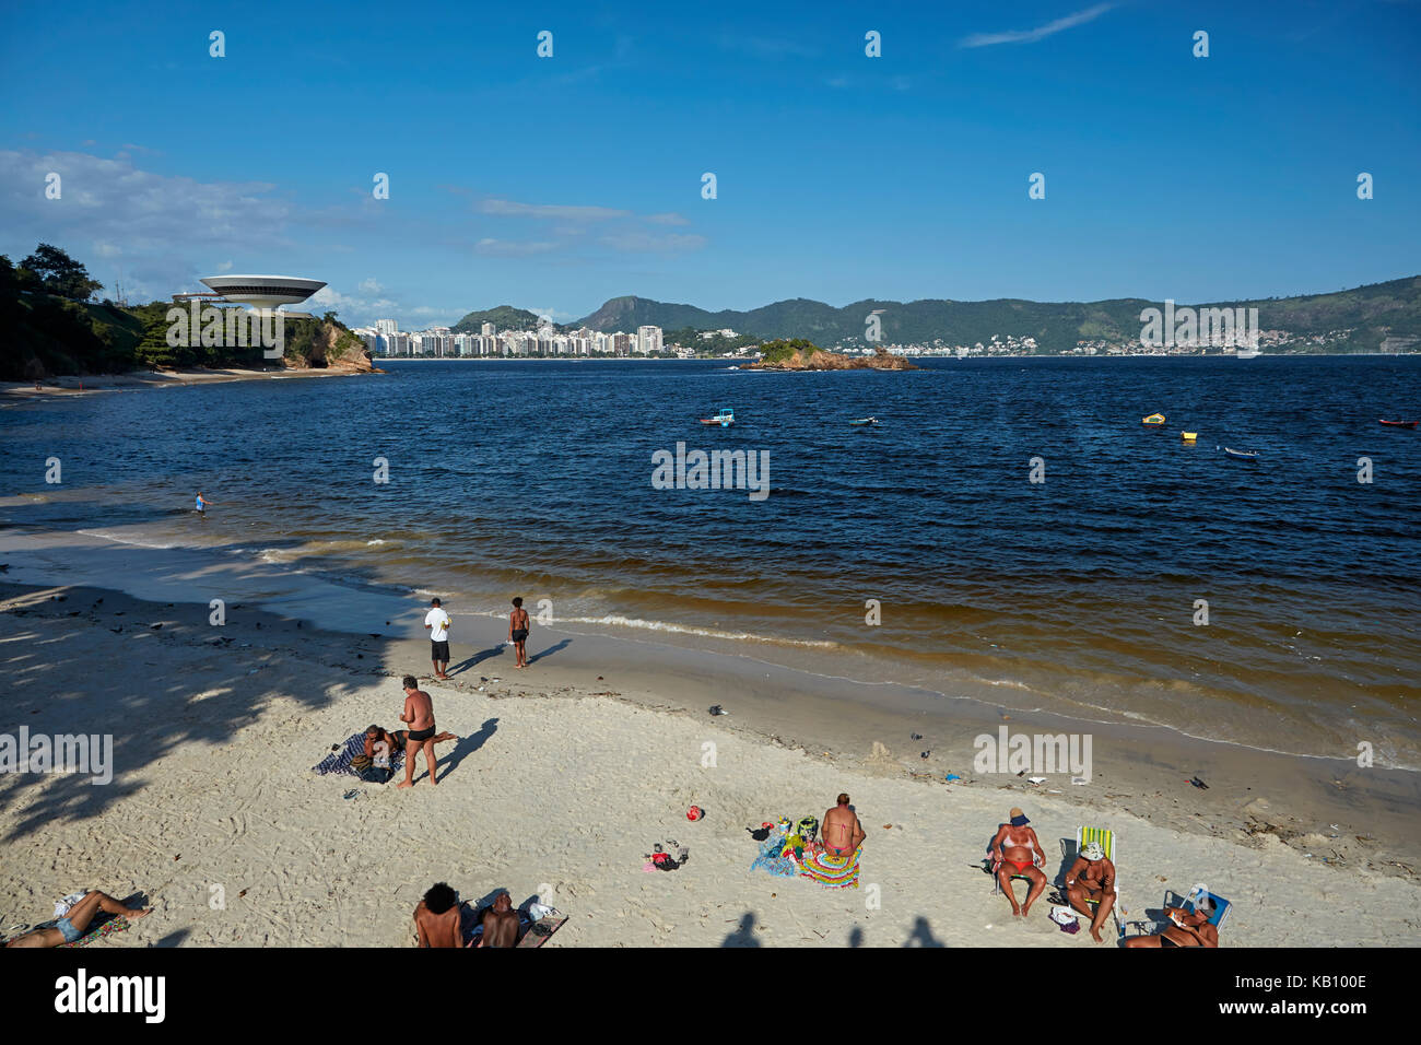
[[[1202,301],[1421,272],[1410,0],[57,11],[0,11],[0,252],[57,243],[129,300],[284,273],[419,328],[618,294]]]

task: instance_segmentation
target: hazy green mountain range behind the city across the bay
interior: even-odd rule
[[[662,330],[719,330],[729,327],[763,338],[803,337],[821,345],[863,343],[867,317],[881,310],[884,344],[988,343],[1000,338],[1033,337],[1040,353],[1070,351],[1077,341],[1138,341],[1140,313],[1160,309],[1162,301],[1114,299],[1108,301],[854,301],[841,309],[823,301],[797,297],[749,311],[725,309],[708,311],[693,304],[652,301],[645,297],[614,297],[601,309],[558,330],[590,327],[600,331],[635,331],[641,326]],[[1373,283],[1353,290],[1304,297],[1269,297],[1246,301],[1177,301],[1196,309],[1258,309],[1262,330],[1286,330],[1297,338],[1293,351],[1378,351],[1383,341],[1394,338],[1407,347],[1408,338],[1421,338],[1421,276]],[[499,317],[499,318],[496,318]],[[506,317],[506,321],[504,318]],[[537,317],[526,310],[500,306],[469,313],[460,330],[477,331],[479,323],[493,321],[500,330],[531,328]],[[1339,331],[1347,331],[1340,334]],[[1331,337],[1327,337],[1331,334]],[[1323,344],[1302,344],[1300,338],[1327,337]],[[1421,348],[1412,341],[1410,348]]]

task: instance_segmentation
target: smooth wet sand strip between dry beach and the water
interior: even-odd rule
[[[425,600],[379,584],[355,587],[202,549],[146,549],[64,533],[0,532],[0,550],[9,560],[7,583],[122,593],[146,606],[172,606],[169,614],[182,607],[176,616],[192,621],[206,621],[209,597],[220,594],[229,621],[261,613],[287,621],[286,628],[304,621],[303,634],[318,634],[323,643],[358,645],[374,638],[389,651],[387,674],[428,672],[419,626]],[[196,577],[200,582],[188,580]],[[477,660],[469,671],[502,668],[509,655],[497,643],[506,620],[460,600],[446,597],[446,603],[456,620],[450,637],[456,664],[472,655]],[[325,621],[340,627],[321,627]],[[230,634],[230,627],[222,634]],[[753,653],[698,643],[693,636],[678,638],[534,623],[529,651],[536,670],[529,678],[577,687],[588,675],[615,677],[618,700],[703,721],[712,721],[706,708],[720,704],[730,712],[713,719],[720,728],[860,771],[959,786],[944,783],[955,773],[973,785],[1019,793],[1017,803],[1053,795],[1081,808],[1142,809],[1187,833],[1236,842],[1273,835],[1319,862],[1370,866],[1381,874],[1405,876],[1407,867],[1395,864],[1421,864],[1417,772],[1260,751],[1160,725],[1006,708],[899,682],[864,682],[772,664]],[[999,739],[1002,729],[1009,738],[1064,734],[1083,738],[1081,744],[1088,738],[1090,782],[1073,785],[1066,766],[976,773],[979,738]],[[1047,781],[1033,786],[1026,776]],[[1192,786],[1194,778],[1208,789]]]

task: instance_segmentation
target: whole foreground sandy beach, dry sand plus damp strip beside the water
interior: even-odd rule
[[[0,779],[7,928],[98,887],[156,907],[99,947],[399,947],[414,943],[419,896],[445,880],[469,900],[537,894],[570,917],[557,947],[1093,947],[1060,933],[1044,901],[1012,918],[980,870],[998,823],[1022,806],[1052,877],[1079,825],[1117,832],[1127,918],[1152,918],[1167,890],[1204,883],[1233,903],[1223,947],[1421,938],[1414,829],[1388,826],[1414,823],[1405,782],[1371,783],[1361,798],[1360,782],[1322,768],[1313,786],[1337,778],[1333,809],[1351,818],[1304,830],[1322,812],[1306,775],[1265,792],[1287,785],[1256,754],[1179,766],[1169,744],[1097,738],[1090,786],[1056,776],[1037,788],[971,772],[980,727],[962,709],[955,735],[922,711],[854,717],[821,684],[796,687],[753,661],[736,675],[671,647],[627,655],[627,644],[541,628],[530,670],[514,672],[497,647],[504,626],[450,607],[453,675],[438,682],[418,626],[357,637],[314,627],[301,607],[277,616],[236,603],[213,627],[206,603],[119,587],[0,586],[0,734],[82,731],[114,745],[107,785]],[[369,722],[396,727],[406,671],[432,694],[439,728],[460,738],[439,749],[439,786],[422,762],[412,791],[314,773]],[[709,702],[732,714],[712,718]],[[904,729],[909,718],[924,741]],[[944,761],[966,768],[963,779],[946,783]],[[1179,786],[1151,789],[1128,769],[1140,763]],[[1219,775],[1245,763],[1258,786]],[[1209,791],[1184,783],[1191,773],[1214,773]],[[861,889],[750,870],[747,827],[823,818],[840,791],[868,833]],[[705,819],[688,822],[691,805]],[[652,846],[668,842],[688,846],[689,862],[647,873]]]

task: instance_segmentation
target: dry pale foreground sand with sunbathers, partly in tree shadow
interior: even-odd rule
[[[1057,931],[1044,901],[1013,920],[972,867],[1007,808],[1023,805],[1054,873],[1059,839],[1080,820],[1064,799],[914,781],[872,759],[836,766],[733,732],[732,719],[590,695],[615,680],[549,687],[537,667],[509,680],[519,672],[503,664],[485,668],[504,677],[487,692],[476,690],[479,668],[462,688],[425,687],[439,727],[476,738],[441,745],[438,788],[422,761],[412,791],[321,778],[310,766],[333,744],[372,721],[396,727],[402,692],[398,678],[371,674],[391,670],[377,641],[323,644],[269,626],[266,638],[225,631],[223,644],[210,628],[173,624],[190,607],[72,589],[55,603],[57,591],[11,589],[0,604],[0,732],[112,732],[117,772],[107,786],[0,778],[4,927],[98,887],[142,890],[156,906],[98,945],[408,945],[421,893],[446,880],[466,899],[540,893],[570,916],[554,947],[1094,947],[1084,931]],[[169,623],[148,627],[158,620]],[[344,800],[351,789],[360,798]],[[821,818],[840,791],[868,832],[864,889],[749,870],[757,847],[746,826]],[[685,819],[692,803],[705,820]],[[1157,910],[1167,889],[1202,881],[1235,904],[1225,947],[1421,938],[1411,880],[1322,864],[1269,836],[1238,843],[1127,813],[1103,820],[1118,835],[1133,917]],[[689,846],[689,863],[645,873],[644,856],[668,839]],[[222,910],[213,886],[225,889]]]

